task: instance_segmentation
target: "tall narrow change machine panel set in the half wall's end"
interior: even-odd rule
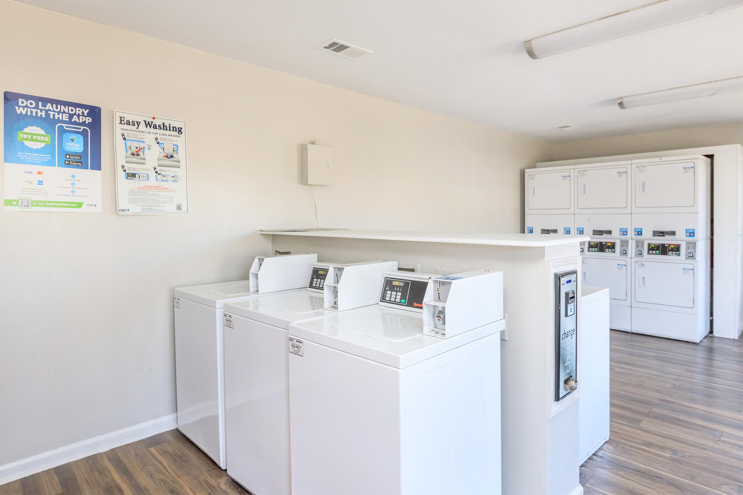
[[[565,399],[578,387],[578,335],[576,270],[559,272],[555,278],[555,401]]]

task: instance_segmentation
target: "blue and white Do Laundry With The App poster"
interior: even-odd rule
[[[5,91],[4,206],[100,212],[100,107]]]

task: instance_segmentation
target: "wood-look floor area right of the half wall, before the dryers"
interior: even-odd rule
[[[743,494],[743,339],[611,330],[609,442],[585,494]]]

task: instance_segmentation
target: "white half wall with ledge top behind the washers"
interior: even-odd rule
[[[503,272],[501,332],[502,493],[578,494],[576,392],[555,401],[554,274],[580,267],[579,243],[587,236],[452,234],[366,230],[268,232],[274,250],[317,252],[342,263],[389,259],[421,272],[473,269]],[[580,278],[577,278],[580,297]],[[580,318],[577,328],[580,349]],[[588,371],[586,371],[588,373]]]

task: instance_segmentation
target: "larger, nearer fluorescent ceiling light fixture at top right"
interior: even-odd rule
[[[532,59],[542,59],[556,53],[608,42],[611,39],[741,6],[743,6],[741,0],[658,0],[527,39],[524,47]]]

